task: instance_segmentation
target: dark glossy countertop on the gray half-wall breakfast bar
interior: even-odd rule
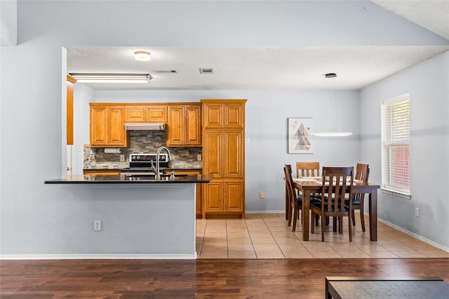
[[[134,178],[135,179],[135,178]],[[124,185],[138,185],[142,183],[210,183],[210,179],[206,178],[201,174],[196,174],[192,176],[175,176],[175,180],[171,181],[168,177],[156,181],[154,176],[140,176],[138,179],[131,179],[130,176],[126,174],[121,175],[75,175],[67,176],[67,179],[53,179],[44,181],[44,183],[54,183],[54,184],[124,184]]]

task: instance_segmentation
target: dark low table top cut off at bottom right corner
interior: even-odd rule
[[[327,299],[449,298],[439,277],[326,277]]]

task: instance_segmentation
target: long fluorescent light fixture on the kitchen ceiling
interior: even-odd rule
[[[151,83],[149,74],[70,74],[78,83]]]

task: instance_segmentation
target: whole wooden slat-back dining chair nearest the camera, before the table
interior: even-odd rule
[[[354,167],[323,167],[323,187],[321,189],[321,202],[311,203],[311,218],[321,216],[321,241],[324,242],[324,227],[326,218],[338,218],[342,232],[343,217],[349,218],[349,242],[352,242],[352,186],[354,184]],[[326,197],[329,200],[326,200]],[[348,201],[346,202],[346,198]],[[332,200],[330,200],[332,199]],[[337,217],[337,218],[335,218]],[[334,221],[334,231],[336,221]],[[315,223],[311,221],[311,232],[315,232]]]

